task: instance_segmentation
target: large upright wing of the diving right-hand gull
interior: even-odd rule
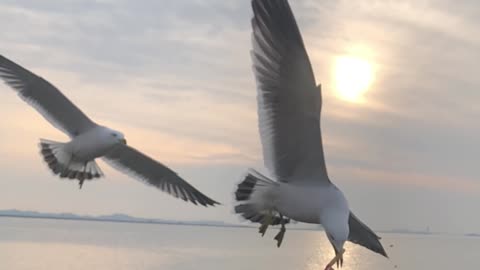
[[[252,7],[265,166],[279,181],[330,182],[320,134],[320,88],[290,6],[286,0],[253,0]]]

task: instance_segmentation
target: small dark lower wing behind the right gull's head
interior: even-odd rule
[[[348,218],[348,226],[350,228],[348,241],[366,247],[388,258],[382,243],[380,243],[380,237],[361,222],[352,212],[350,212]]]

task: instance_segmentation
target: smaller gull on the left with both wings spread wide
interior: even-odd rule
[[[127,145],[124,135],[90,120],[60,90],[48,81],[0,55],[0,78],[35,108],[47,121],[70,137],[69,142],[40,140],[40,153],[50,170],[60,178],[101,178],[95,159],[184,201],[203,206],[218,202],[205,196],[177,173]]]

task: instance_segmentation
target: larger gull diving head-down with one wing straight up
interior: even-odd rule
[[[350,241],[388,257],[378,237],[351,211],[328,177],[320,131],[321,86],[316,85],[302,36],[287,0],[252,0],[251,58],[257,83],[258,121],[268,178],[250,170],[235,191],[235,213],[280,225],[280,247],[290,220],[321,224],[343,265]]]

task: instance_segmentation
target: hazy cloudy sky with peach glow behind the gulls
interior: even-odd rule
[[[323,85],[330,178],[374,229],[479,231],[480,3],[290,1]],[[196,207],[110,169],[54,177],[39,138],[65,141],[0,85],[0,209],[237,222],[232,192],[263,163],[246,0],[3,0],[0,54],[223,203]],[[338,57],[369,61],[364,102],[339,99]]]

